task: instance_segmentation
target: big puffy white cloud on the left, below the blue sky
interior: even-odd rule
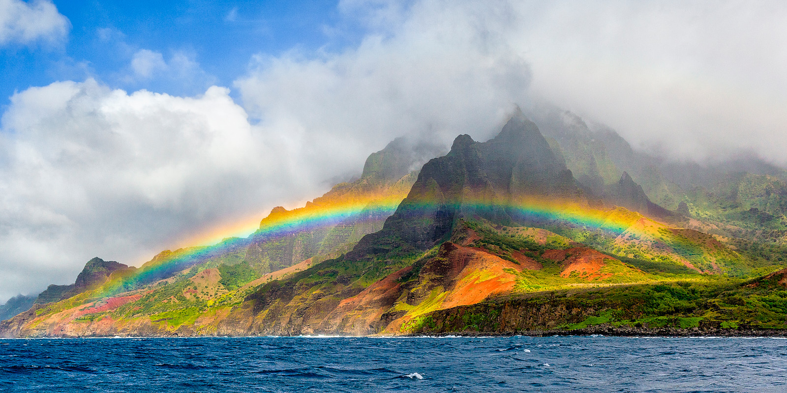
[[[212,226],[253,225],[308,195],[278,160],[293,152],[227,94],[93,80],[15,94],[0,132],[0,299],[72,282],[94,256],[140,263]]]

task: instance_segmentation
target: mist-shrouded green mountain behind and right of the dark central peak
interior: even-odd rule
[[[641,196],[628,201],[613,196],[620,206],[711,233],[759,259],[787,260],[784,168],[750,153],[704,163],[668,160],[637,151],[615,130],[589,125],[560,108],[540,105],[529,114],[584,188],[608,194],[615,188],[636,189],[625,179],[628,174],[648,200],[667,211],[649,211]]]

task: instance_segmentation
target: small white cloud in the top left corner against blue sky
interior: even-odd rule
[[[55,42],[63,39],[69,28],[68,19],[57,12],[52,2],[0,0],[0,45],[37,40]]]

